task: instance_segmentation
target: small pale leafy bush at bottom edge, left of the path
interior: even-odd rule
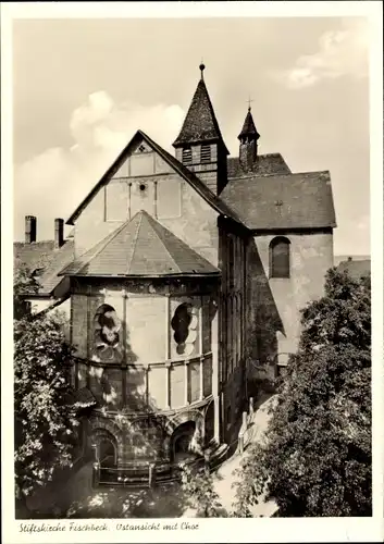
[[[191,468],[185,465],[182,470],[182,489],[189,506],[197,510],[197,517],[222,517],[223,507],[214,491],[213,477],[207,467]]]

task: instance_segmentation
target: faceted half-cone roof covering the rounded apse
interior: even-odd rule
[[[146,211],[137,212],[61,275],[206,275],[220,271]]]

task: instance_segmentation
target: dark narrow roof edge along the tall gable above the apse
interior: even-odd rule
[[[218,212],[223,215],[227,215],[232,220],[236,221],[237,223],[240,223],[240,220],[228,206],[223,202],[219,197],[216,197],[210,188],[207,187],[207,185],[199,180],[190,170],[188,170],[184,164],[182,164],[175,157],[172,157],[168,151],[165,151],[159,144],[153,141],[147,134],[145,134],[143,131],[137,131],[135,136],[132,138],[129,144],[123,149],[123,151],[120,153],[117,159],[113,162],[113,164],[107,170],[104,175],[101,177],[101,180],[95,185],[92,190],[87,195],[87,197],[80,202],[80,205],[76,208],[76,210],[72,213],[70,219],[67,220],[69,225],[73,225],[74,221],[78,218],[78,215],[82,213],[84,208],[90,202],[90,200],[94,198],[94,196],[98,193],[100,187],[102,187],[104,184],[108,183],[110,177],[119,170],[121,164],[126,160],[126,158],[129,156],[131,150],[134,148],[134,146],[139,141],[144,139],[147,141],[149,146],[152,147],[152,149],[159,153],[159,156],[168,163],[170,164],[175,172],[177,172],[186,182],[189,183],[194,187],[194,189]]]

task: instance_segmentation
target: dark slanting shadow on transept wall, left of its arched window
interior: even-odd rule
[[[277,356],[277,332],[285,335],[284,325],[270,288],[253,237],[247,246],[247,346],[249,395],[257,396],[252,383],[274,375]]]

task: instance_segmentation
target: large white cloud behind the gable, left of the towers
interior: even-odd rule
[[[37,217],[38,239],[52,238],[53,219],[74,211],[138,128],[171,150],[184,116],[177,104],[115,104],[104,90],[89,95],[69,120],[72,147],[15,165],[15,238],[23,239],[27,214]]]

